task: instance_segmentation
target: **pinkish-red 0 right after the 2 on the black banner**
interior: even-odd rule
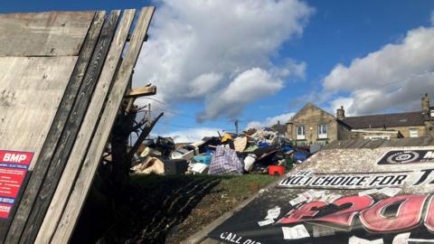
[[[377,202],[373,207],[360,213],[360,221],[368,230],[398,231],[419,224],[423,204],[427,195],[401,195]],[[392,204],[400,204],[395,216],[384,216],[384,211]]]

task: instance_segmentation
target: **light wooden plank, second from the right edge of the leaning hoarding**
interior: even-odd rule
[[[68,200],[71,188],[75,181],[75,177],[80,170],[81,162],[86,155],[88,146],[90,145],[91,136],[93,136],[96,125],[98,124],[99,115],[103,110],[104,101],[109,92],[110,83],[113,80],[115,70],[118,67],[118,61],[122,54],[122,50],[127,42],[127,35],[133,23],[136,10],[127,10],[124,12],[121,22],[113,42],[111,43],[109,55],[104,64],[104,68],[99,77],[99,82],[95,93],[90,102],[86,117],[80,127],[79,135],[75,141],[74,147],[64,172],[68,174],[61,175],[61,181],[57,186],[57,190],[53,195],[50,207],[44,217],[42,226],[39,230],[35,243],[49,243],[50,239],[56,230],[57,224],[61,218],[61,212]],[[39,229],[39,228],[36,228]],[[33,239],[29,239],[33,242]]]

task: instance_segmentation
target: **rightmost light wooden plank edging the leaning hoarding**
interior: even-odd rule
[[[138,18],[136,29],[128,45],[127,54],[118,70],[113,88],[110,90],[109,99],[99,120],[95,136],[71,192],[70,201],[62,213],[61,221],[54,233],[52,243],[67,243],[71,238],[75,223],[87,198],[93,176],[97,171],[101,155],[106,147],[111,128],[118,114],[118,108],[127,91],[128,80],[137,62],[137,57],[154,10],[154,7],[143,8]]]

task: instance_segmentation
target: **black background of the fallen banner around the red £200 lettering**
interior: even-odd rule
[[[383,243],[392,243],[393,238],[404,232],[411,232],[410,238],[418,239],[434,239],[434,234],[430,233],[429,230],[421,223],[418,227],[412,230],[403,230],[392,233],[373,233],[363,228],[363,225],[356,216],[352,225],[352,229],[338,230],[335,229],[335,235],[328,237],[317,237],[313,236],[313,225],[311,221],[303,221],[297,224],[274,224],[268,226],[259,227],[258,221],[263,221],[267,215],[269,209],[275,206],[280,207],[280,215],[277,220],[285,216],[291,209],[292,206],[288,203],[288,199],[294,199],[297,197],[297,193],[306,192],[307,189],[279,189],[275,188],[267,193],[264,193],[259,198],[250,202],[241,211],[235,212],[230,219],[224,221],[216,229],[209,233],[208,237],[216,239],[225,243],[239,243],[239,244],[264,244],[264,243],[348,243],[348,239],[352,236],[356,236],[362,239],[383,239]],[[359,190],[344,190],[336,191],[331,190],[331,193],[339,193],[344,196],[347,195],[357,195]],[[373,197],[375,202],[381,199],[376,199]],[[423,219],[423,217],[422,217]],[[293,227],[298,224],[303,224],[307,231],[309,232],[310,238],[306,239],[283,239],[283,232],[281,227]],[[324,224],[324,223],[323,223]],[[328,225],[330,228],[332,226]],[[223,234],[222,234],[223,233]],[[228,233],[231,233],[233,237],[232,240],[223,239],[227,237]],[[238,241],[238,242],[237,242]],[[409,242],[412,243],[412,242]]]

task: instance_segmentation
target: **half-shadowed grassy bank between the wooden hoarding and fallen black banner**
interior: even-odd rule
[[[133,174],[133,205],[113,243],[179,243],[269,183],[264,174]]]

